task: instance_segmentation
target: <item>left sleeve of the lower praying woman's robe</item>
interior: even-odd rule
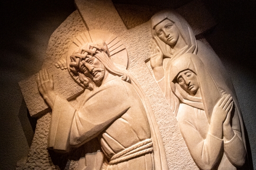
[[[178,112],[180,111],[188,112],[194,109],[188,110],[181,106]],[[206,139],[203,139],[196,127],[186,118],[179,120],[178,124],[193,160],[202,170],[211,170],[221,157],[223,140],[209,133]]]

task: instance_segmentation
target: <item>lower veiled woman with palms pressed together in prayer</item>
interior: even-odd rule
[[[195,54],[171,64],[178,125],[193,160],[202,170],[247,170],[238,110],[231,95],[219,89]]]

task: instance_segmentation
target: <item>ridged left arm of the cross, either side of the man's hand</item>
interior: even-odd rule
[[[55,92],[60,94],[63,98],[70,100],[75,96],[81,94],[83,88],[77,83],[74,83],[69,72],[66,70],[57,69],[54,65],[48,67],[48,72],[54,75]],[[24,100],[27,104],[27,109],[32,117],[38,117],[44,115],[49,111],[48,105],[39,94],[37,88],[37,74],[20,81],[19,87],[24,96]]]

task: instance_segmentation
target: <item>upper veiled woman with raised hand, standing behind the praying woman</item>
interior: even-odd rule
[[[243,123],[235,89],[228,72],[217,54],[204,43],[196,40],[189,24],[184,18],[173,11],[163,10],[156,13],[150,20],[150,26],[152,34],[152,40],[150,42],[152,54],[150,59],[151,68],[155,80],[165,95],[174,115],[177,115],[180,99],[177,98],[172,91],[172,87],[174,86],[174,83],[172,83],[173,80],[171,80],[172,63],[183,54],[196,54],[204,65],[204,69],[210,73],[211,80],[214,82],[217,89],[224,90],[233,98],[238,113],[238,120],[240,121],[243,142],[246,145],[249,167],[253,169],[247,132]],[[210,90],[206,93],[209,94],[209,92]],[[211,95],[209,95],[209,97],[210,96]],[[205,98],[206,97],[207,96],[205,96]],[[206,101],[210,100],[206,99]],[[210,109],[212,110],[214,106],[209,105],[207,107],[212,107]],[[208,121],[210,120],[209,118],[210,117],[208,117]]]

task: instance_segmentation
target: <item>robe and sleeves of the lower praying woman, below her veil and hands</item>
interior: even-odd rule
[[[233,126],[234,137],[224,141],[208,133],[204,110],[181,103],[176,118],[192,158],[202,170],[237,170],[234,165],[243,164],[246,151],[240,127]]]

